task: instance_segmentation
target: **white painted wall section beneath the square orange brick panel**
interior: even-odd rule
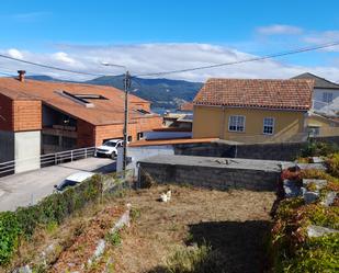
[[[39,169],[41,132],[14,133],[15,173]]]

